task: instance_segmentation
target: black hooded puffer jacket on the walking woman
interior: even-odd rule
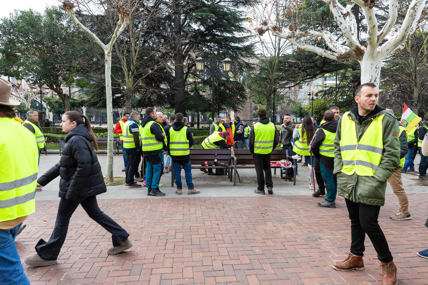
[[[59,197],[77,200],[107,191],[101,166],[91,145],[92,135],[84,124],[77,125],[65,136],[61,159],[37,183],[47,185],[58,175]]]

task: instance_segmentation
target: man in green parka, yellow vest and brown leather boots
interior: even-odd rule
[[[366,234],[382,267],[383,284],[396,284],[397,267],[377,222],[385,203],[386,181],[400,164],[397,120],[377,105],[374,83],[355,91],[357,106],[339,119],[334,139],[334,174],[337,194],[345,198],[351,220],[351,250],[344,261],[333,264],[340,271],[364,269]]]

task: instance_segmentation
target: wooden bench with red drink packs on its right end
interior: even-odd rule
[[[232,155],[232,166],[234,168],[234,180],[233,180],[233,186],[236,186],[236,170],[239,168],[255,168],[254,166],[254,160],[253,156],[250,153],[250,150],[243,150],[243,149],[233,149],[235,156]],[[292,159],[291,156],[288,156],[287,150],[273,150],[270,154],[270,160],[271,161],[278,161],[282,159]],[[291,166],[293,168],[293,185],[296,185],[296,166]],[[280,168],[281,171],[281,178],[282,175],[287,175],[287,168],[282,170],[281,167],[272,167],[273,171],[276,175],[276,168]],[[232,181],[232,180],[231,180]]]

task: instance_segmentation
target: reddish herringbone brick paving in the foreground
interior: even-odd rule
[[[412,220],[394,221],[397,197],[386,196],[379,223],[398,267],[399,284],[428,284],[428,194],[409,194]],[[380,284],[381,269],[366,238],[366,270],[333,269],[349,250],[345,201],[316,206],[310,196],[98,200],[130,233],[131,251],[108,256],[111,235],[79,206],[58,264],[24,270],[44,284]],[[16,244],[22,261],[47,240],[58,201],[37,201]],[[0,282],[1,283],[1,282]]]

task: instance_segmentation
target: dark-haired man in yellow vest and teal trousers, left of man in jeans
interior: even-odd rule
[[[163,150],[166,150],[165,131],[162,126],[156,122],[157,118],[158,114],[155,108],[146,108],[146,116],[141,120],[141,127],[143,128],[141,142],[147,166],[147,195],[165,196],[165,193],[159,190]]]

